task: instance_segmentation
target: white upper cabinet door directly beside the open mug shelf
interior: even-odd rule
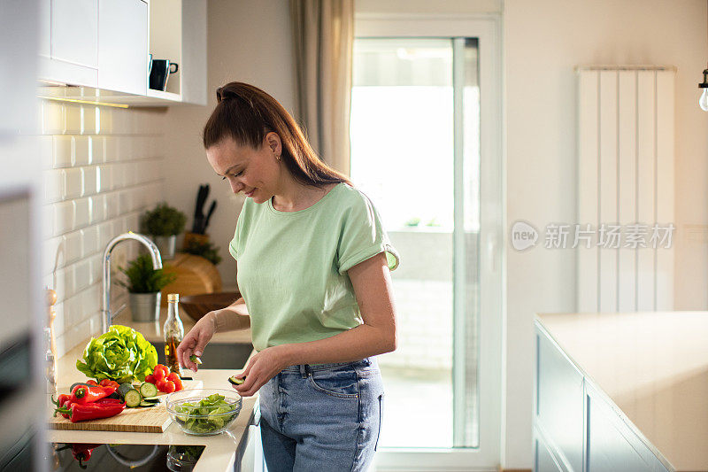
[[[99,0],[98,87],[135,95],[148,89],[148,4]]]

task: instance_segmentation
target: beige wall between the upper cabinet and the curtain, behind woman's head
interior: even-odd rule
[[[180,106],[167,113],[165,199],[187,213],[191,228],[200,183],[209,182],[219,206],[207,232],[221,250],[219,273],[225,289],[235,286],[235,261],[228,253],[243,197],[206,161],[202,130],[216,105],[216,89],[228,81],[244,81],[266,90],[293,111],[294,66],[289,4],[279,0],[210,0],[207,23],[207,106]],[[204,210],[206,211],[206,210]]]

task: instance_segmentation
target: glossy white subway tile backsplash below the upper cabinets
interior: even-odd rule
[[[100,329],[105,245],[127,229],[138,230],[140,213],[162,195],[158,155],[165,115],[50,100],[40,108],[48,204],[42,206],[48,220],[42,278],[60,300],[55,327],[61,355]],[[135,256],[133,246],[124,249]]]

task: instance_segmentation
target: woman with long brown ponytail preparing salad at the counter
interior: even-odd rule
[[[242,298],[198,321],[178,356],[196,370],[189,356],[215,332],[250,326],[258,353],[235,390],[259,392],[268,470],[366,470],[383,406],[372,356],[396,349],[396,250],[371,201],[273,97],[231,82],[217,98],[204,148],[247,197],[229,244]]]

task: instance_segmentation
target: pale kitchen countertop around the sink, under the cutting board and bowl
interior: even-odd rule
[[[165,322],[166,309],[161,310],[161,320],[153,323],[137,323],[130,321],[129,313],[121,313],[115,324],[124,324],[140,331],[151,343],[162,341],[162,324]],[[185,313],[181,313],[185,332],[194,325]],[[75,382],[85,382],[86,375],[76,369],[76,360],[80,359],[86,343],[81,343],[71,351],[66,352],[57,363],[58,391],[66,392]],[[250,330],[218,333],[212,338],[214,344],[243,343],[250,344]],[[211,344],[211,343],[210,343]],[[209,347],[207,346],[207,349]],[[251,352],[253,355],[255,352]],[[245,368],[235,369],[207,369],[200,368],[193,373],[189,370],[185,375],[192,376],[195,381],[201,381],[203,388],[228,389],[231,383],[228,377],[235,375]],[[48,402],[48,417],[50,415]],[[164,433],[137,433],[137,432],[112,432],[112,431],[75,431],[49,429],[47,439],[51,443],[95,443],[116,445],[204,445],[204,452],[196,463],[196,472],[216,472],[233,470],[234,465],[242,460],[246,444],[252,429],[250,426],[258,422],[258,394],[253,397],[243,398],[242,410],[234,424],[223,434],[210,437],[190,436],[181,431],[179,426],[170,423]]]

